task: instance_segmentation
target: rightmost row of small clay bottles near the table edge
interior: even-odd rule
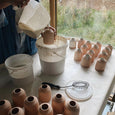
[[[106,46],[102,50],[102,52],[98,56],[98,60],[97,60],[96,65],[95,65],[96,71],[103,72],[105,70],[106,63],[107,63],[107,61],[110,58],[111,53],[112,53],[112,49],[113,49],[113,47],[109,44],[108,46]]]

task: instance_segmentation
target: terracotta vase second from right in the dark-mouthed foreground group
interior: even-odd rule
[[[52,108],[55,114],[63,114],[65,98],[62,94],[56,94],[52,99]]]

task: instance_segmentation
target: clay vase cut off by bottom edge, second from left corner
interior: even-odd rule
[[[25,115],[24,110],[20,107],[14,107],[9,111],[8,115]]]

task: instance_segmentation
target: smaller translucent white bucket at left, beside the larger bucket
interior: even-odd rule
[[[21,86],[33,82],[33,59],[31,56],[26,54],[10,56],[6,59],[5,66],[15,85]]]

